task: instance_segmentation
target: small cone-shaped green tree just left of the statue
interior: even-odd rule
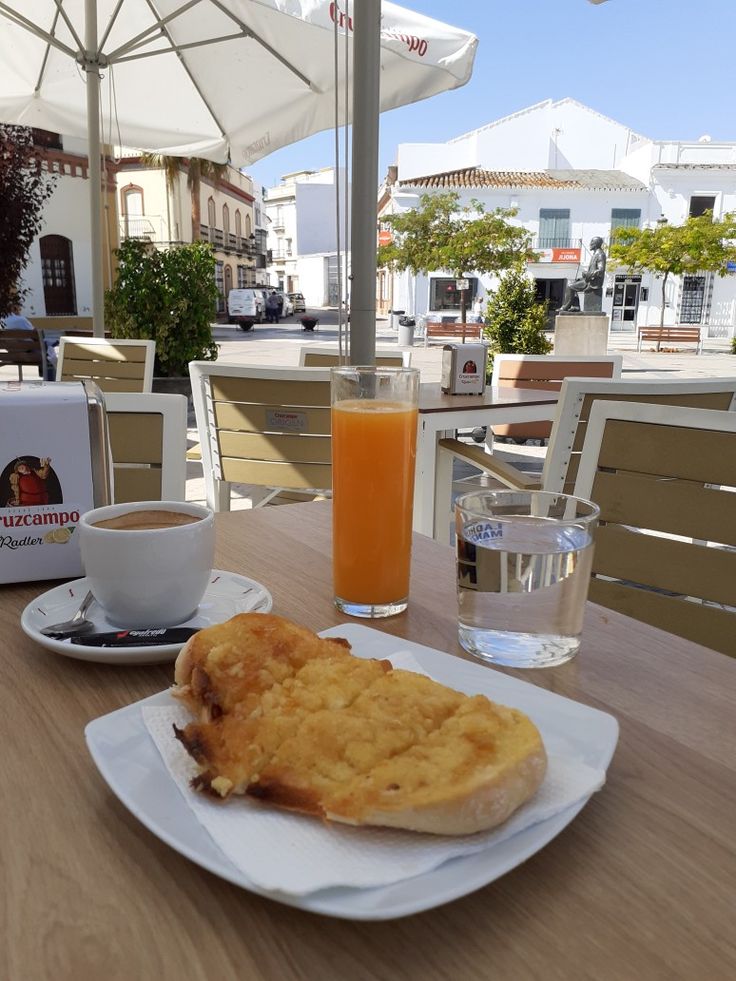
[[[544,328],[547,305],[537,299],[534,282],[523,266],[509,269],[486,304],[483,336],[488,346],[488,371],[496,354],[548,354],[552,345]]]

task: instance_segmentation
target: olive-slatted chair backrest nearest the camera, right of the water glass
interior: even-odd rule
[[[736,412],[596,402],[575,493],[601,509],[590,599],[736,656]]]

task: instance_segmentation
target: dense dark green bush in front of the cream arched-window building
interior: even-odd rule
[[[129,239],[117,256],[117,279],[105,294],[105,324],[113,337],[154,340],[162,375],[186,375],[190,361],[214,361],[217,345],[210,322],[217,286],[212,246],[193,242],[158,250]]]

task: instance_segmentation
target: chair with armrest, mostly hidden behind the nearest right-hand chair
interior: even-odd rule
[[[472,464],[482,473],[518,490],[562,491],[571,494],[580,462],[587,421],[600,400],[645,402],[691,408],[736,409],[736,378],[685,379],[683,381],[606,381],[566,378],[562,383],[557,413],[541,475],[528,474],[479,446],[442,439],[435,484],[435,538],[446,540],[452,501],[452,467],[456,459]]]

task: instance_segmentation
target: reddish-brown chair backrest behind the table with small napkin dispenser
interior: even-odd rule
[[[491,384],[499,388],[538,388],[559,392],[565,378],[620,378],[622,354],[563,356],[555,354],[497,354]],[[494,436],[548,439],[549,422],[494,426]]]

